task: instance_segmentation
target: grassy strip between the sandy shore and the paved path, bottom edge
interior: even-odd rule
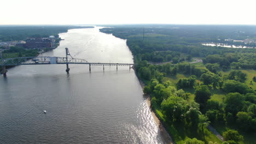
[[[160,110],[160,106],[153,105],[153,107],[154,107],[156,115],[161,120],[161,122],[163,122],[166,130],[168,131],[168,133],[171,134],[173,140],[177,144],[182,144],[182,143],[184,143],[184,141],[186,139],[188,139],[188,138],[192,139],[194,137],[196,137],[196,139],[205,141],[206,143],[208,143],[209,141],[222,143],[218,139],[218,137],[216,137],[214,134],[212,134],[211,131],[209,131],[207,128],[201,127],[201,125],[199,125],[196,129],[195,128],[188,129],[182,123],[171,124],[171,123],[167,122],[166,118],[164,117],[164,115],[162,114],[162,112]]]

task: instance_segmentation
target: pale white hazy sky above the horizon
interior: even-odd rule
[[[0,0],[0,5],[0,25],[256,25],[255,0]]]

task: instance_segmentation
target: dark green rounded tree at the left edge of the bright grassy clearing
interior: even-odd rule
[[[195,101],[203,106],[206,104],[206,101],[210,99],[211,92],[209,88],[205,85],[197,86],[195,90]]]

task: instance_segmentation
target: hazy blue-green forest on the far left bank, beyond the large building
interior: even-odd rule
[[[0,42],[25,40],[28,37],[49,37],[54,35],[59,38],[59,33],[67,32],[73,28],[93,28],[91,26],[0,26]]]

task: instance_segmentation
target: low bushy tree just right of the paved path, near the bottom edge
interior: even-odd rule
[[[236,130],[228,130],[223,133],[225,141],[243,141],[243,136],[238,133]]]

